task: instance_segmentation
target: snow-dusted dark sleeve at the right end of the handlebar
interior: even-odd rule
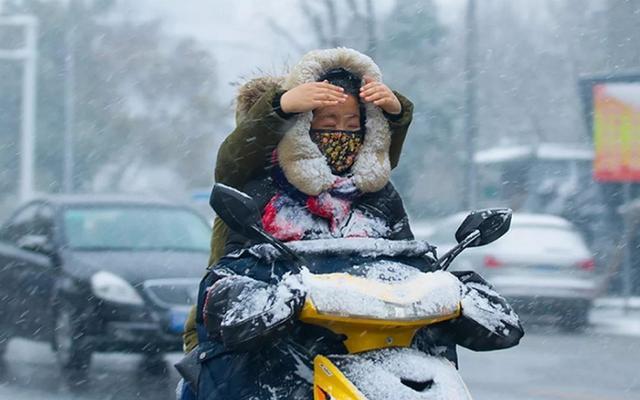
[[[513,347],[524,330],[507,301],[477,273],[452,272],[462,282],[462,315],[443,323],[443,334],[475,351]]]

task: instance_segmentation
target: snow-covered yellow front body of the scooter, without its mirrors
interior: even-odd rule
[[[410,348],[419,329],[460,315],[460,305],[448,301],[455,293],[438,290],[450,275],[403,273],[411,277],[399,282],[303,274],[300,320],[344,335],[349,352],[315,357],[315,400],[471,398],[451,362]]]

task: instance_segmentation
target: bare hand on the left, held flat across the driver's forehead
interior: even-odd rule
[[[287,114],[307,112],[344,103],[347,97],[343,88],[327,81],[303,83],[282,95],[280,109]]]

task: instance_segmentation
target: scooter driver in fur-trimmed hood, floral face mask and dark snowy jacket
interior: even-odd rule
[[[273,98],[272,107],[281,118],[291,120],[290,126],[272,152],[269,171],[241,188],[258,203],[268,233],[282,241],[413,239],[402,200],[389,182],[388,117],[366,100],[372,88],[378,88],[381,97],[381,92],[386,92],[376,83],[379,80],[380,72],[370,58],[353,50],[332,49],[307,54],[281,83],[284,93]],[[326,90],[322,97],[316,97],[318,92],[312,88]],[[317,101],[331,103],[314,103]],[[252,244],[248,238],[230,232],[225,253],[233,254]],[[223,258],[211,270],[215,278],[203,312],[197,316],[202,345],[199,357],[206,360],[198,398],[249,399],[269,393],[277,398],[308,398],[309,382],[304,374],[297,373],[300,364],[308,362],[302,357],[309,352],[306,344],[321,343],[332,353],[340,353],[344,351],[341,339],[293,322],[302,301],[295,284],[267,282],[268,276],[261,280],[229,274],[225,265]],[[473,274],[459,279],[464,288],[461,293],[479,296],[494,305],[492,310],[499,315],[492,321],[500,323],[486,326],[486,320],[463,314],[443,324],[440,331],[420,335],[418,346],[425,351],[442,343],[454,349],[460,344],[488,350],[517,344],[522,329],[506,302]],[[251,313],[246,318],[246,309],[238,311],[239,305],[252,304],[254,297],[275,292],[285,294],[277,313],[270,314],[273,307],[252,309],[255,318]],[[289,312],[282,312],[282,307],[288,307]],[[235,325],[234,314],[238,312],[243,322]],[[264,321],[269,324],[265,326]],[[281,335],[287,340],[275,339]]]

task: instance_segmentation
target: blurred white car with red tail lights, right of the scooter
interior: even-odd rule
[[[454,233],[465,214],[422,228],[442,255],[455,244]],[[507,297],[527,321],[556,322],[575,330],[587,325],[600,279],[580,233],[563,218],[543,214],[513,215],[510,231],[487,246],[465,250],[451,270],[475,270]]]

